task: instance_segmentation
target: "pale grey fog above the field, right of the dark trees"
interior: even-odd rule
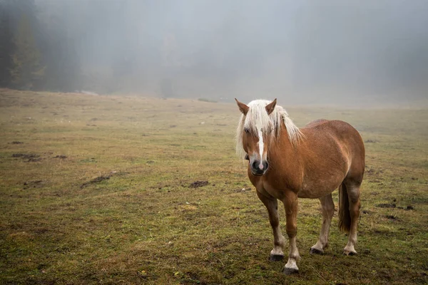
[[[56,45],[67,52],[39,42],[46,65],[76,65],[63,78],[73,81],[68,89],[282,105],[427,103],[425,0],[34,4],[41,38],[65,35]]]

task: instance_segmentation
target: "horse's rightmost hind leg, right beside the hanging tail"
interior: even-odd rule
[[[348,242],[345,249],[343,249],[343,253],[346,255],[354,255],[357,254],[354,247],[357,244],[358,219],[360,217],[360,185],[347,182],[345,182],[345,184],[350,202],[351,227]]]

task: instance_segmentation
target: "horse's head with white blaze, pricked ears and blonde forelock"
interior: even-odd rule
[[[264,175],[269,168],[267,150],[275,135],[275,124],[270,114],[275,109],[276,99],[272,102],[255,100],[248,105],[238,100],[236,103],[243,113],[238,125],[237,149],[242,147],[253,175]]]

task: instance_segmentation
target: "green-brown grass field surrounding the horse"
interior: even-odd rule
[[[298,126],[360,130],[357,256],[342,255],[337,213],[330,247],[310,255],[320,203],[300,199],[300,274],[267,261],[267,212],[235,157],[235,104],[3,89],[0,284],[427,284],[428,110],[279,105]]]

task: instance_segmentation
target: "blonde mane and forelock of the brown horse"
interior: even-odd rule
[[[270,139],[280,138],[281,122],[284,122],[287,129],[288,139],[293,147],[297,147],[299,140],[303,137],[302,132],[292,123],[287,111],[281,106],[276,105],[275,109],[267,115],[266,105],[268,100],[253,100],[248,104],[250,109],[247,115],[241,114],[238,128],[236,129],[236,153],[239,157],[244,158],[246,153],[243,149],[243,131],[248,129],[250,133],[258,136],[258,130],[270,131]]]

